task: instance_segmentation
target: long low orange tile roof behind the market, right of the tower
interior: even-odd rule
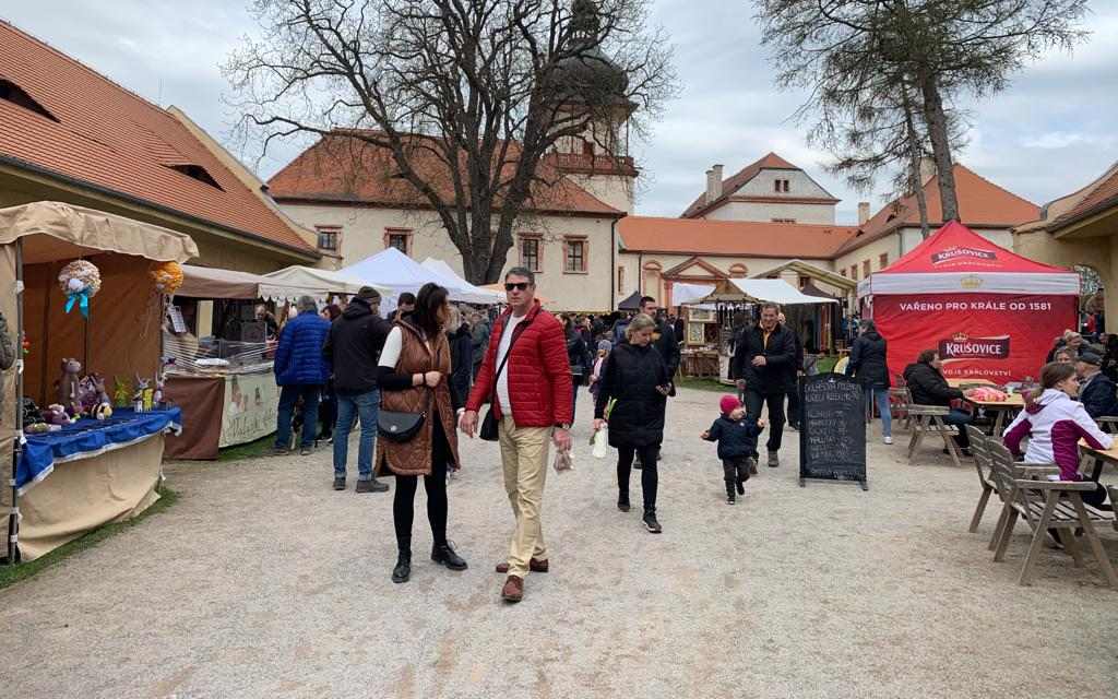
[[[626,252],[806,259],[834,257],[856,230],[853,226],[651,216],[627,216],[617,224]]]

